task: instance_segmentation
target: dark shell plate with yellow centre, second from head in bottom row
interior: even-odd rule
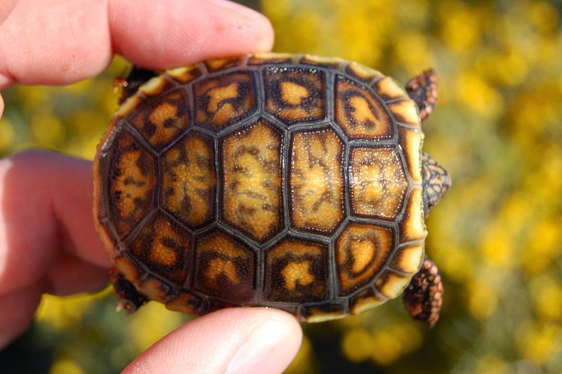
[[[265,252],[263,295],[274,302],[314,302],[328,297],[327,245],[287,238]]]

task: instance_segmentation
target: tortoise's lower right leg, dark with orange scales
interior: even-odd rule
[[[412,318],[425,322],[432,328],[439,320],[443,292],[443,282],[437,266],[426,257],[421,269],[407,286],[403,301]]]

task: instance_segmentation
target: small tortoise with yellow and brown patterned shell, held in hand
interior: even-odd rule
[[[438,320],[424,219],[450,186],[421,152],[436,73],[401,88],[337,58],[257,53],[133,68],[94,161],[119,305],[341,318],[398,297]]]

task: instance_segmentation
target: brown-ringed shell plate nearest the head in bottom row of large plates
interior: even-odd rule
[[[392,228],[349,224],[335,245],[340,296],[349,295],[372,282],[391,255],[394,245]]]

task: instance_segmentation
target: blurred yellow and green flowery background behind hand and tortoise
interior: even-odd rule
[[[249,4],[251,3],[251,4]],[[454,181],[427,221],[445,281],[429,330],[400,300],[304,325],[287,373],[562,372],[562,5],[558,0],[262,0],[275,51],[339,56],[406,82],[427,67],[440,103],[424,150]],[[13,86],[0,155],[44,147],[93,158],[117,95],[115,58],[72,86]],[[0,352],[7,372],[115,373],[188,316],[115,313],[107,288],[41,302]]]

